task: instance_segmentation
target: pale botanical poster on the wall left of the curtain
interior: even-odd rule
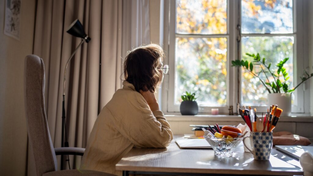
[[[4,34],[20,39],[21,0],[5,0]]]

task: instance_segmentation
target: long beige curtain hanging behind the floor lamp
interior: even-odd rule
[[[126,52],[150,43],[149,1],[38,0],[33,54],[44,60],[45,108],[55,148],[61,147],[64,68],[81,41],[66,30],[77,18],[91,41],[78,49],[67,69],[65,111],[70,147],[85,148],[98,114],[121,88]],[[71,168],[79,167],[80,160],[70,156]],[[33,175],[32,162],[29,147],[28,175]]]

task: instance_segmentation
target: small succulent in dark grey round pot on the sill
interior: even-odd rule
[[[187,92],[182,97],[182,103],[180,104],[180,113],[182,115],[196,115],[198,114],[198,104],[195,101],[196,93]]]

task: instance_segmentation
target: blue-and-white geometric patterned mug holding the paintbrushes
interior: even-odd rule
[[[251,147],[248,143],[244,145],[253,154],[255,160],[269,160],[273,147],[273,132],[250,132]]]

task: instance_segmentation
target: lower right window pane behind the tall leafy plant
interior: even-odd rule
[[[242,58],[248,60],[249,63],[253,61],[252,57],[246,56],[249,54],[260,54],[261,60],[266,59],[267,65],[271,63],[271,71],[275,70],[277,73],[276,63],[284,58],[289,58],[284,65],[286,72],[289,74],[290,79],[289,88],[293,87],[293,44],[294,37],[280,36],[280,37],[243,37],[242,38]],[[264,68],[266,69],[266,68]],[[254,65],[254,71],[257,73],[260,71],[258,65]],[[268,71],[268,70],[266,70]],[[274,78],[267,74],[269,81],[273,81]],[[283,82],[284,78],[280,74],[280,80]],[[268,82],[265,75],[261,73],[259,77]],[[267,94],[264,85],[261,81],[254,77],[249,71],[242,68],[242,83],[241,83],[242,103],[248,105],[267,105]]]

